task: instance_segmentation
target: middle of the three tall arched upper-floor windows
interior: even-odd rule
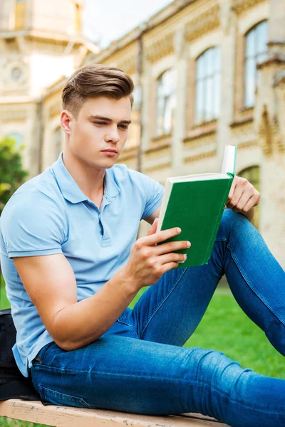
[[[195,122],[219,117],[221,99],[221,55],[219,46],[204,51],[196,61]]]

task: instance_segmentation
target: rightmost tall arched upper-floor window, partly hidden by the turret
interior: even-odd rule
[[[245,36],[244,107],[253,107],[257,86],[257,63],[266,58],[268,22],[263,21]]]

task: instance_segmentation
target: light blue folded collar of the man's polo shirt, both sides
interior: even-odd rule
[[[86,194],[84,194],[83,191],[79,188],[73,176],[71,176],[63,164],[62,154],[62,152],[59,154],[56,162],[51,165],[51,169],[53,169],[53,172],[56,176],[56,181],[58,182],[58,186],[61,189],[61,193],[63,194],[64,199],[70,201],[73,204],[89,200],[88,196],[86,196]],[[111,169],[113,168],[105,170],[104,179],[104,194],[110,198],[115,197],[120,191],[120,188],[113,178],[113,171]]]

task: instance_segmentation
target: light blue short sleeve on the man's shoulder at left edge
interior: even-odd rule
[[[41,191],[14,194],[1,214],[0,226],[9,258],[62,253],[65,214]]]

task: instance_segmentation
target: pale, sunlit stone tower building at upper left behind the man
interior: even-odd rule
[[[81,34],[83,0],[5,0],[0,11],[0,139],[24,143],[24,167],[41,172],[43,94],[98,47]],[[46,119],[46,116],[45,116]]]

